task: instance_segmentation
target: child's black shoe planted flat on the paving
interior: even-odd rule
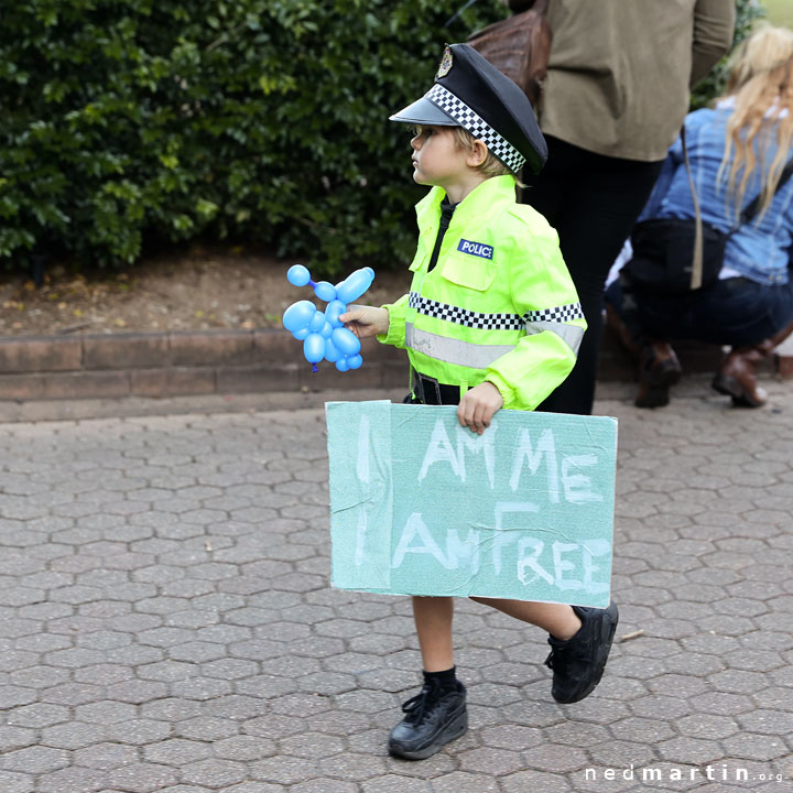
[[[391,730],[389,752],[405,760],[424,760],[468,729],[466,691],[443,692],[425,683],[421,693],[402,705],[404,718]]]

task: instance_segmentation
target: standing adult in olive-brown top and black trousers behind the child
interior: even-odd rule
[[[510,0],[513,11],[534,0]],[[548,161],[524,200],[558,231],[588,330],[572,374],[539,410],[591,413],[609,268],[688,110],[728,51],[735,0],[548,0],[540,122]]]

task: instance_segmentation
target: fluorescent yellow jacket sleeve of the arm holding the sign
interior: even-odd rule
[[[504,408],[534,410],[575,366],[586,322],[553,232],[515,246],[510,291],[526,335],[487,369]]]

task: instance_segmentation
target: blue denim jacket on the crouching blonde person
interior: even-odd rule
[[[720,184],[718,182],[730,112],[731,104],[726,100],[715,110],[696,110],[685,120],[686,148],[702,218],[721,231],[729,231],[737,224],[736,206],[728,194],[726,176]],[[765,153],[767,163],[773,161],[775,152],[775,144],[771,144]],[[760,175],[756,172],[748,182],[741,209],[749,206],[759,193]],[[770,285],[787,283],[790,249],[793,246],[793,178],[776,192],[762,218],[759,214],[749,224],[738,226],[727,241],[723,278],[742,276]],[[640,219],[656,217],[694,218],[694,202],[680,138],[669,151]]]

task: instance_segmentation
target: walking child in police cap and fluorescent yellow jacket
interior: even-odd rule
[[[537,172],[545,141],[523,91],[466,44],[446,47],[433,87],[391,117],[414,124],[413,178],[432,185],[416,206],[419,246],[410,294],[350,306],[359,337],[408,350],[410,401],[458,404],[484,433],[501,408],[533,410],[573,368],[586,329],[556,232],[515,200],[515,174]],[[574,703],[600,681],[617,607],[474,598],[550,633],[552,694]],[[420,760],[461,736],[466,691],[453,658],[450,597],[413,597],[424,667],[389,751]]]

